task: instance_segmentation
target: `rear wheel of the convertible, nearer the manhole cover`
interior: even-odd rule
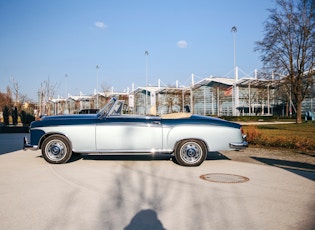
[[[182,166],[199,166],[207,157],[207,148],[199,140],[184,140],[175,149],[175,159]]]

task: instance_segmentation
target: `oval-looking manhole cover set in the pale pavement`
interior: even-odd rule
[[[201,175],[200,178],[217,183],[244,183],[249,181],[247,177],[226,173],[209,173]]]

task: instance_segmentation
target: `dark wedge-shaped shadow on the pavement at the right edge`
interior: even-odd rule
[[[299,176],[315,181],[315,165],[313,164],[253,156],[251,158],[264,164],[282,168]]]

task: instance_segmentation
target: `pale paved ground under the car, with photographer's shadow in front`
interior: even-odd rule
[[[40,151],[23,151],[22,136],[0,134],[1,229],[315,228],[311,168],[220,153],[192,168],[166,155],[75,156],[52,165]]]

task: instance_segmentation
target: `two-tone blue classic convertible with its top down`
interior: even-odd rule
[[[30,126],[24,149],[41,149],[45,160],[66,163],[80,154],[173,154],[178,164],[198,166],[209,151],[248,146],[241,125],[192,115],[123,114],[124,101],[112,98],[97,114],[45,116]]]

